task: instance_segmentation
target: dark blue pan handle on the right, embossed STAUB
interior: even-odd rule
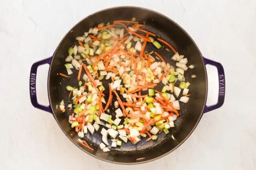
[[[224,74],[224,68],[222,64],[212,61],[209,59],[204,58],[204,63],[210,64],[212,66],[215,66],[218,71],[218,78],[219,78],[219,93],[218,93],[218,102],[216,104],[213,104],[211,106],[205,106],[204,107],[204,113],[208,111],[212,111],[215,109],[220,108],[224,104],[224,98],[225,98],[225,74]]]

